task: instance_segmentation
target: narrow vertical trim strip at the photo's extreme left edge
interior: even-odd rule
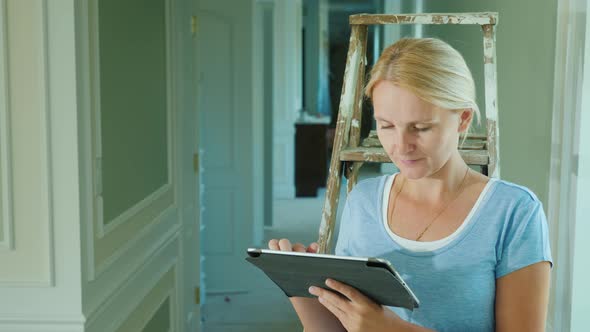
[[[0,0],[0,249],[14,250],[6,1]]]

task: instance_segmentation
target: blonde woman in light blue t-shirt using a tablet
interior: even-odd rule
[[[438,39],[402,39],[371,71],[377,134],[399,173],[349,194],[336,255],[392,262],[420,308],[388,308],[335,280],[291,298],[311,331],[544,331],[551,253],[541,202],[471,170],[460,136],[479,116],[463,57]],[[317,244],[275,250],[315,252]]]

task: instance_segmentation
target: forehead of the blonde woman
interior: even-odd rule
[[[436,106],[388,81],[375,85],[372,100],[375,118],[379,120],[419,122],[436,120],[441,116]]]

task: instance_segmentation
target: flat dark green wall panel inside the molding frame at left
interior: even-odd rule
[[[105,223],[168,182],[164,5],[99,2]]]

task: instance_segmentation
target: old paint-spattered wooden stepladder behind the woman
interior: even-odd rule
[[[365,78],[367,30],[369,25],[381,24],[470,24],[483,30],[485,115],[487,133],[468,135],[460,153],[468,165],[480,166],[482,173],[499,177],[499,131],[496,81],[497,13],[398,14],[350,16],[352,32],[340,97],[336,135],[322,220],[319,229],[319,253],[329,253],[338,210],[342,175],[347,179],[348,192],[356,185],[358,173],[365,162],[390,163],[391,160],[374,131],[361,142],[361,112]]]

